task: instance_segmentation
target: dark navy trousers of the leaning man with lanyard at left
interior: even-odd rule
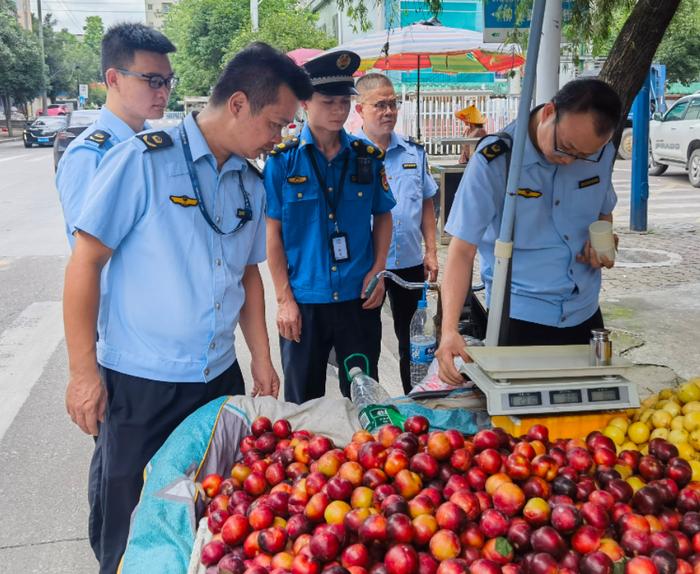
[[[148,461],[188,415],[245,387],[237,362],[207,384],[152,381],[105,368],[101,374],[107,408],[90,463],[89,536],[100,574],[115,574]]]

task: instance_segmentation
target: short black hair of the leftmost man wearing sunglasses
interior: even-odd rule
[[[123,22],[107,30],[102,37],[102,77],[109,68],[126,68],[137,50],[170,54],[176,50],[162,32],[138,22]]]

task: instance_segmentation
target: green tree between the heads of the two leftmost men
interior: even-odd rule
[[[231,40],[248,18],[247,0],[181,0],[173,5],[165,34],[177,46],[173,67],[178,95],[205,96],[216,82]]]

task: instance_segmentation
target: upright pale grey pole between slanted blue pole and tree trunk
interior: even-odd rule
[[[547,103],[559,90],[561,19],[561,2],[547,2],[542,23],[542,43],[537,59],[536,104]]]

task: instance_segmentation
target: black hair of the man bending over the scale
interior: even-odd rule
[[[593,113],[599,136],[615,131],[622,115],[620,96],[603,80],[581,78],[568,82],[552,98],[559,115]]]

